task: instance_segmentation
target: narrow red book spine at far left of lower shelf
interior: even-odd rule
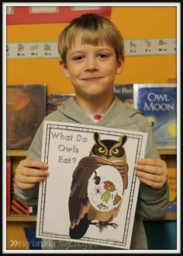
[[[6,156],[6,216],[11,215],[11,182],[12,162],[10,156]]]

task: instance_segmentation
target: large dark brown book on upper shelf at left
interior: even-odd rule
[[[47,114],[47,86],[7,86],[7,149],[28,149]]]

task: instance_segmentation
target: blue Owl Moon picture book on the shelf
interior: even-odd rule
[[[157,149],[176,149],[176,84],[134,84],[134,107],[147,117]]]

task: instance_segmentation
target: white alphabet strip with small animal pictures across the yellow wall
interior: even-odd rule
[[[126,56],[176,54],[176,38],[124,40]],[[6,57],[60,58],[57,42],[18,42],[6,45]]]

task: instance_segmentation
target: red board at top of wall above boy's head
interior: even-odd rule
[[[68,23],[81,14],[93,12],[110,19],[110,6],[8,6],[7,25]]]

